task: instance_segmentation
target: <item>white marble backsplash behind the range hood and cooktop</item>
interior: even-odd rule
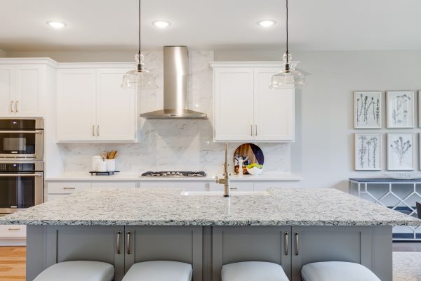
[[[225,145],[213,143],[213,73],[208,65],[213,60],[213,51],[189,51],[189,108],[205,112],[208,120],[146,120],[138,117],[138,143],[58,144],[65,173],[90,171],[93,155],[113,149],[119,151],[116,168],[122,173],[195,170],[206,171],[209,175],[220,174]],[[163,105],[163,54],[146,52],[145,61],[155,72],[159,88],[139,93],[138,112],[159,110]],[[233,155],[240,144],[230,143],[229,155]],[[289,143],[258,145],[265,154],[266,174],[290,172]]]

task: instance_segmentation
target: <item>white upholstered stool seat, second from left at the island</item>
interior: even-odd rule
[[[179,261],[143,261],[135,263],[123,281],[190,281],[192,265]]]

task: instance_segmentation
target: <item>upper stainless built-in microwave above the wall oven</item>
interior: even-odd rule
[[[0,118],[0,159],[44,159],[43,118]]]

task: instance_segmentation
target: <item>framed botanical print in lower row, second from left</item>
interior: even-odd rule
[[[387,133],[387,169],[415,170],[415,133]]]

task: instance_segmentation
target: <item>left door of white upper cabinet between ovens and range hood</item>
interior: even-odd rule
[[[59,70],[58,141],[94,141],[95,70]]]

